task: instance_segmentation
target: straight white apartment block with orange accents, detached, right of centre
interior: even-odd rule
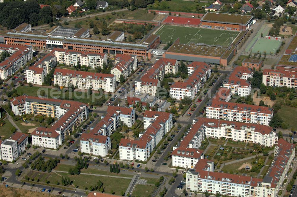
[[[273,109],[269,107],[212,100],[206,104],[206,117],[269,125]]]

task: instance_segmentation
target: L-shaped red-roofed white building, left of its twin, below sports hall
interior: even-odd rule
[[[135,91],[157,95],[157,89],[161,87],[161,81],[165,74],[176,74],[178,72],[178,61],[174,59],[161,58],[143,74],[140,79],[135,80]]]

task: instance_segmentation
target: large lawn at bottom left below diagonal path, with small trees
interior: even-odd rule
[[[113,177],[100,177],[100,176],[90,176],[90,175],[70,175],[68,173],[59,173],[64,177],[70,178],[73,180],[73,185],[78,185],[78,188],[84,189],[89,188],[90,185],[95,185],[98,180],[103,182],[103,187],[105,193],[111,193],[113,190],[116,192],[116,195],[119,195],[121,191],[125,192],[131,182],[131,179],[123,179],[123,178],[113,178]]]

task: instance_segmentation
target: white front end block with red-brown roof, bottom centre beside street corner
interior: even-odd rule
[[[119,144],[120,159],[146,161],[151,155],[148,142],[122,138]]]

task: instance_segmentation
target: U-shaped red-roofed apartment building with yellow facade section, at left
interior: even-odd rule
[[[11,101],[15,115],[34,114],[58,118],[51,128],[37,127],[32,133],[32,144],[58,148],[89,114],[88,105],[61,99],[46,99],[33,96],[17,96]]]

